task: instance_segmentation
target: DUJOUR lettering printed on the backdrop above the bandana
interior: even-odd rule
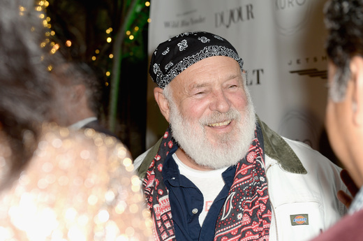
[[[253,4],[223,10],[214,14],[215,27],[230,27],[231,24],[253,20]]]

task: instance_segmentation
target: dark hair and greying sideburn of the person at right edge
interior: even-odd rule
[[[363,0],[331,0],[325,3],[328,30],[326,51],[336,66],[330,89],[334,101],[341,101],[350,77],[350,59],[363,54]]]

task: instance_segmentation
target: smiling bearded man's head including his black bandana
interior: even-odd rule
[[[188,166],[218,169],[246,155],[255,111],[242,66],[228,41],[207,32],[175,36],[152,55],[154,96]]]

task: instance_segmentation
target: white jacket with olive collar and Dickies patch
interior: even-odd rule
[[[265,149],[265,170],[272,204],[270,241],[306,241],[346,214],[336,192],[346,191],[341,168],[304,143],[283,138],[258,119]],[[144,178],[161,140],[135,159]]]

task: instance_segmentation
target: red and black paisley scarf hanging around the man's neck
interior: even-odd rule
[[[175,240],[168,191],[161,174],[174,145],[169,128],[142,182],[156,240]],[[269,240],[270,224],[265,160],[255,131],[248,154],[237,163],[235,179],[216,221],[214,240]]]

